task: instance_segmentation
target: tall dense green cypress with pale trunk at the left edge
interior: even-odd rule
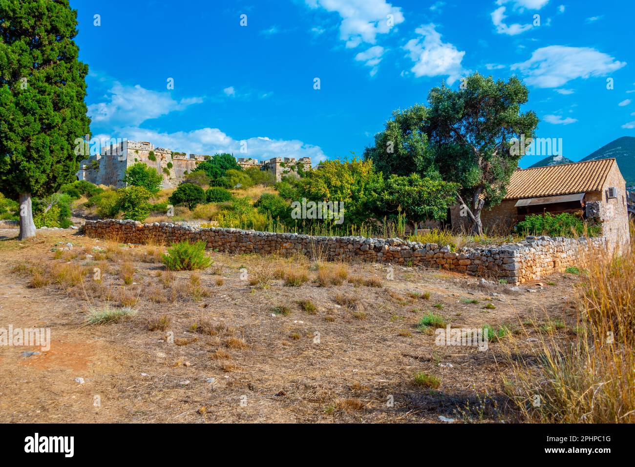
[[[75,179],[90,131],[88,66],[69,0],[0,0],[0,192],[20,203],[19,239],[36,234],[31,197]]]

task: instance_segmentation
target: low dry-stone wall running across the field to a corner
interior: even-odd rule
[[[603,248],[605,239],[527,237],[519,243],[495,247],[462,248],[408,242],[401,239],[364,237],[317,237],[274,234],[236,228],[197,228],[171,223],[142,224],[136,221],[86,221],[88,237],[124,243],[164,244],[180,240],[203,240],[208,248],[227,253],[304,254],[327,260],[358,260],[445,268],[470,275],[505,279],[510,284],[540,279],[567,266],[581,266],[589,249]]]

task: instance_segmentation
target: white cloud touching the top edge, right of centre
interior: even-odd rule
[[[347,48],[355,48],[361,43],[375,44],[377,34],[391,30],[388,15],[392,15],[394,26],[404,20],[401,8],[385,0],[305,0],[305,3],[311,8],[320,7],[340,15],[340,39],[346,41]]]

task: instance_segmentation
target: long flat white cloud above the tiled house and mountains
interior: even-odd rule
[[[523,72],[532,86],[558,88],[572,79],[606,76],[625,65],[589,47],[548,46],[535,50],[529,60],[515,63],[511,69]]]

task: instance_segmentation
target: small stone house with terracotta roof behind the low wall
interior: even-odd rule
[[[486,232],[506,234],[529,214],[579,213],[601,222],[602,235],[617,244],[630,238],[627,191],[615,159],[518,169],[498,206],[481,212]],[[470,222],[450,210],[451,228],[467,230]]]

